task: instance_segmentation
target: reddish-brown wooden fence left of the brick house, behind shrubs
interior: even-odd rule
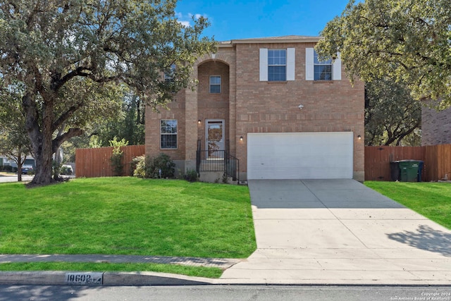
[[[130,164],[135,156],[144,156],[144,145],[128,145],[121,147],[123,151],[123,176],[132,176]],[[113,147],[95,149],[75,149],[75,176],[85,178],[114,176],[111,166]]]

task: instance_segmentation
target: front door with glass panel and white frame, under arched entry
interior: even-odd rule
[[[224,138],[224,120],[207,119],[205,126],[206,147],[208,155],[206,159],[224,159],[226,147]]]

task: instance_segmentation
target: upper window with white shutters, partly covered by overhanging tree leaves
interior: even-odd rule
[[[341,80],[340,53],[335,60],[319,61],[314,48],[305,49],[305,80]]]

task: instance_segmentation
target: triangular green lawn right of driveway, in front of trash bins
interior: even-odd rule
[[[365,185],[451,229],[450,183],[366,181]]]

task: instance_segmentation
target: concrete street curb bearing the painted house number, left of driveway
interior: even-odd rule
[[[99,284],[71,283],[69,271],[1,271],[0,285],[208,285],[216,279],[153,272],[104,272]],[[89,272],[80,272],[86,274]]]

